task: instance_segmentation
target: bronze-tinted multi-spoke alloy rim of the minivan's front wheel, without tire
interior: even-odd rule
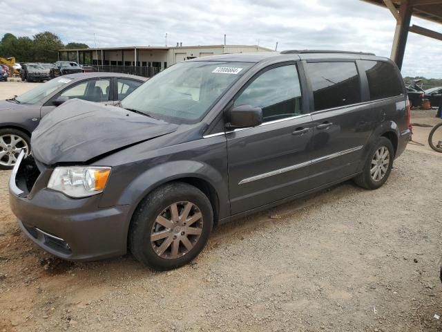
[[[191,202],[173,203],[155,219],[151,246],[159,257],[177,259],[198,243],[202,227],[202,213],[197,205]]]

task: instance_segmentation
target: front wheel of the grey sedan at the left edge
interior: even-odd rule
[[[0,169],[12,169],[21,149],[30,151],[30,138],[17,129],[0,129]]]

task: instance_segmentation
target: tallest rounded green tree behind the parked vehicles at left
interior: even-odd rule
[[[49,31],[34,35],[32,44],[34,46],[34,61],[36,62],[57,61],[58,50],[64,47],[61,39]]]

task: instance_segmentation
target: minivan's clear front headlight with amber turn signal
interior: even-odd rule
[[[106,187],[111,167],[56,167],[48,188],[70,197],[86,197],[99,194]]]

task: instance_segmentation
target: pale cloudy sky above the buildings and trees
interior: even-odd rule
[[[360,0],[0,0],[0,36],[49,30],[90,47],[245,44],[390,56],[396,21]],[[422,19],[412,24],[442,32]],[[95,38],[94,38],[95,34]],[[442,78],[442,42],[410,33],[404,76]]]

